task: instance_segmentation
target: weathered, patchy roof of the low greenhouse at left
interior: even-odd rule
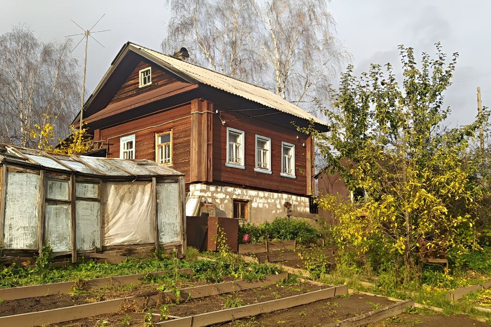
[[[0,145],[0,161],[34,165],[48,170],[99,176],[184,176],[183,173],[150,160],[62,155],[5,144]]]

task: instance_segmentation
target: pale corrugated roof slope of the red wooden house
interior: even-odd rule
[[[214,72],[211,69],[204,68],[189,63],[187,61],[179,60],[172,56],[164,55],[160,52],[147,49],[139,44],[128,42],[128,45],[131,48],[133,48],[132,49],[133,51],[137,53],[138,51],[142,51],[143,53],[146,53],[157,59],[155,60],[155,62],[160,63],[161,65],[170,69],[171,71],[182,73],[200,83],[254,101],[266,107],[274,108],[292,114],[298,118],[302,118],[309,121],[313,120],[318,124],[327,126],[325,122],[321,121],[316,116],[284,100],[283,98],[277,96],[276,94],[274,94],[269,90],[266,90],[264,88],[261,88],[253,84],[242,82],[240,80],[234,79],[227,75]]]

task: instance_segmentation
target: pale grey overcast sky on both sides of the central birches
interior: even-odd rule
[[[103,45],[90,40],[87,84],[94,90],[110,62],[130,40],[159,50],[165,37],[169,8],[165,1],[140,0],[0,0],[0,34],[13,25],[26,24],[43,41],[60,41],[65,35],[82,33],[103,15],[94,34]],[[467,124],[476,116],[476,87],[482,90],[484,106],[491,106],[491,1],[477,0],[332,0],[331,11],[338,25],[338,37],[351,50],[355,72],[366,71],[370,63],[398,64],[398,44],[413,46],[416,53],[434,53],[440,41],[445,53],[460,57],[445,103],[453,113],[451,125]],[[82,36],[74,37],[77,43]],[[83,46],[74,56],[83,59]],[[394,69],[398,74],[400,69]],[[489,74],[487,77],[467,80]],[[461,81],[465,80],[465,81]],[[457,82],[461,81],[461,82]]]

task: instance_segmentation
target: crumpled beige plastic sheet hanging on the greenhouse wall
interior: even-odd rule
[[[151,182],[102,184],[103,245],[154,243]]]

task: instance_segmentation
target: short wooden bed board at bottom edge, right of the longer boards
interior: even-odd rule
[[[406,308],[413,308],[414,301],[407,300],[403,302],[394,303],[393,305],[384,307],[382,309],[374,310],[362,314],[358,317],[348,318],[339,322],[328,323],[324,327],[358,327],[364,326],[368,323],[380,321],[385,318],[390,318],[400,313],[403,313]]]

